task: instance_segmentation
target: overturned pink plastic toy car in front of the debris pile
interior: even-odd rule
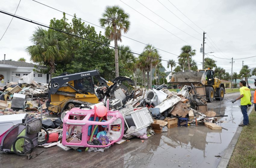
[[[71,132],[75,132],[73,128],[76,126],[77,130],[81,130],[81,133],[80,133],[81,141],[76,141],[76,143],[67,142],[66,136],[63,136],[62,144],[64,146],[72,146],[72,147],[104,148],[122,139],[123,133],[124,133],[124,120],[123,120],[123,116],[119,113],[119,111],[109,111],[107,113],[107,117],[105,117],[106,119],[104,118],[105,122],[90,121],[90,119],[94,118],[94,116],[95,116],[94,109],[82,110],[80,108],[73,108],[69,112],[67,112],[63,122],[63,135],[70,135],[69,130],[71,130]],[[107,145],[97,146],[97,145],[88,144],[87,141],[89,141],[90,139],[89,135],[91,135],[89,134],[89,127],[93,125],[98,125],[100,127],[99,130],[101,129],[106,130],[107,137],[110,140],[110,142]]]

